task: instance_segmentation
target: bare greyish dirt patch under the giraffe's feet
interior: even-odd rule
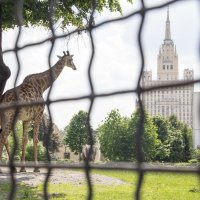
[[[46,169],[40,169],[39,173],[33,172],[33,169],[30,168],[27,168],[26,170],[27,172],[18,172],[14,175],[16,182],[24,183],[29,186],[37,186],[38,184],[44,183],[47,174]],[[2,171],[3,173],[0,174],[0,182],[10,183],[11,176],[9,171],[7,169],[2,169]],[[120,185],[125,183],[119,179],[98,174],[91,175],[91,180],[93,184],[103,185]],[[51,173],[49,182],[51,184],[84,184],[87,181],[83,172],[68,169],[54,169]]]

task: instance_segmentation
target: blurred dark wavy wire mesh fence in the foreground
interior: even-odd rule
[[[92,2],[92,12],[90,14],[89,17],[89,22],[88,22],[88,26],[84,29],[82,29],[81,31],[87,31],[89,33],[89,37],[90,37],[90,46],[92,49],[91,55],[90,55],[90,60],[89,60],[89,64],[88,64],[88,68],[87,68],[87,78],[89,81],[89,86],[90,86],[90,94],[89,95],[82,95],[82,96],[77,96],[74,98],[63,98],[63,99],[56,99],[56,100],[50,100],[50,94],[52,92],[52,89],[50,87],[50,90],[48,92],[48,96],[47,99],[45,101],[35,101],[35,102],[31,102],[31,103],[22,103],[22,102],[15,102],[11,105],[0,105],[0,110],[3,111],[5,109],[8,108],[20,108],[20,107],[26,107],[26,106],[30,106],[30,105],[46,105],[48,108],[48,113],[50,116],[50,122],[52,121],[51,118],[51,109],[50,109],[50,105],[53,103],[58,103],[58,102],[69,102],[69,101],[79,101],[79,100],[83,100],[83,99],[88,99],[90,101],[90,106],[88,109],[88,119],[87,119],[87,123],[88,123],[88,134],[89,134],[89,138],[90,138],[90,142],[93,145],[94,141],[93,141],[93,137],[92,137],[92,130],[91,130],[91,126],[90,126],[90,118],[91,118],[91,112],[93,109],[93,104],[94,101],[97,98],[105,98],[105,97],[110,97],[110,96],[115,96],[115,95],[123,95],[123,94],[137,94],[138,97],[138,102],[139,102],[139,107],[141,108],[141,116],[140,116],[140,126],[136,132],[136,155],[137,155],[137,164],[133,164],[133,163],[106,163],[106,164],[91,164],[89,162],[89,157],[88,159],[86,159],[86,162],[84,162],[83,164],[72,164],[72,163],[67,163],[67,164],[52,164],[50,162],[50,155],[49,152],[47,150],[47,158],[48,158],[48,163],[14,163],[13,159],[11,159],[10,163],[9,163],[9,168],[10,168],[10,173],[11,173],[11,190],[10,190],[10,194],[8,199],[14,199],[15,198],[15,193],[16,193],[16,180],[14,177],[14,168],[15,167],[39,167],[39,168],[46,168],[48,170],[45,181],[44,181],[44,199],[49,199],[49,195],[48,195],[48,182],[49,182],[49,177],[51,174],[51,170],[55,169],[55,168],[64,168],[64,169],[84,169],[85,171],[85,175],[87,178],[87,186],[88,186],[88,195],[87,195],[87,199],[91,200],[94,197],[94,191],[93,191],[93,186],[91,183],[91,169],[105,169],[105,170],[130,170],[130,171],[136,171],[138,173],[138,182],[137,182],[137,186],[136,186],[136,192],[133,196],[133,199],[141,199],[141,188],[142,188],[142,184],[143,184],[143,180],[144,180],[144,176],[146,172],[175,172],[175,173],[194,173],[196,175],[200,175],[200,168],[198,167],[193,167],[193,168],[179,168],[179,167],[166,167],[166,166],[150,166],[147,164],[144,164],[144,155],[143,155],[143,151],[142,151],[142,134],[143,134],[143,124],[144,124],[144,108],[143,108],[143,104],[142,104],[142,99],[141,99],[141,94],[145,91],[151,91],[151,90],[156,90],[156,89],[164,89],[164,88],[168,88],[168,87],[177,87],[177,86],[185,86],[185,85],[189,85],[189,84],[194,84],[194,83],[199,83],[200,79],[197,80],[191,80],[191,81],[184,81],[184,82],[179,82],[179,83],[172,83],[172,84],[166,84],[166,85],[159,85],[159,86],[151,86],[151,87],[145,87],[142,88],[141,87],[141,77],[142,77],[142,73],[144,71],[144,66],[145,66],[145,56],[144,56],[144,48],[143,48],[143,40],[142,40],[142,33],[143,33],[143,27],[144,27],[144,22],[145,22],[145,18],[147,13],[149,12],[153,12],[155,10],[161,9],[163,7],[167,7],[169,5],[172,4],[178,4],[179,2],[183,2],[183,1],[187,1],[189,2],[189,0],[172,0],[172,1],[166,1],[165,3],[156,5],[156,6],[152,6],[152,7],[146,7],[145,5],[145,1],[141,0],[141,7],[140,9],[138,9],[137,11],[131,12],[128,15],[122,16],[120,18],[117,19],[112,19],[112,20],[106,20],[103,21],[101,23],[98,23],[96,25],[94,25],[93,23],[93,17],[94,17],[94,13],[96,10],[96,5],[98,3],[98,1],[93,0]],[[197,0],[198,1],[198,0]],[[0,1],[1,4],[3,4],[6,1]],[[16,0],[15,1],[15,17],[16,17],[16,21],[17,24],[19,26],[18,29],[18,36],[16,38],[15,41],[15,47],[11,48],[11,49],[7,49],[5,50],[3,53],[9,53],[9,52],[13,52],[15,54],[16,60],[17,60],[17,75],[16,75],[16,79],[15,79],[15,86],[17,84],[17,80],[18,80],[18,76],[21,70],[21,64],[20,64],[20,60],[19,60],[19,52],[29,48],[29,47],[33,47],[33,46],[39,46],[42,45],[46,42],[51,42],[51,47],[49,50],[49,55],[48,55],[48,63],[49,63],[49,68],[51,68],[51,55],[52,55],[52,51],[53,48],[55,46],[55,41],[61,38],[66,38],[66,37],[70,37],[74,34],[77,34],[80,32],[80,30],[74,30],[71,32],[68,32],[67,34],[62,34],[62,35],[56,35],[55,34],[55,30],[54,30],[54,26],[53,26],[53,16],[54,16],[54,11],[56,9],[56,4],[58,1],[56,0],[49,0],[49,13],[48,13],[48,22],[50,24],[50,31],[52,36],[50,38],[46,38],[44,40],[41,40],[39,42],[36,43],[29,43],[23,46],[19,46],[19,39],[21,37],[21,27],[22,27],[22,19],[23,19],[23,1],[22,0]],[[200,1],[198,1],[200,3]],[[96,50],[96,46],[95,46],[95,40],[93,37],[93,31],[94,30],[98,30],[98,28],[103,27],[103,26],[109,26],[111,23],[115,23],[118,21],[123,21],[123,20],[127,20],[129,18],[134,18],[135,16],[140,16],[140,26],[139,29],[137,31],[138,33],[138,49],[139,49],[139,53],[140,53],[140,69],[139,69],[139,76],[137,79],[137,87],[133,88],[133,89],[127,89],[127,90],[118,90],[115,92],[107,92],[107,93],[96,93],[95,92],[95,88],[94,88],[94,84],[93,84],[93,77],[91,74],[91,70],[93,68],[93,61],[94,61],[94,56],[95,56],[95,50]],[[52,74],[51,74],[51,78],[52,78]],[[16,92],[16,97],[17,97],[17,92]],[[18,111],[18,110],[17,110]],[[16,116],[17,116],[17,111],[15,114],[15,119],[13,121],[13,130],[15,131],[14,125],[16,123]],[[50,123],[51,124],[51,123]],[[50,138],[50,134],[52,131],[52,126],[49,129],[49,134],[48,134],[48,138],[47,138],[47,143],[49,142],[49,138]],[[15,148],[14,151],[12,153],[12,158],[15,155],[15,151],[17,148],[17,139],[15,137],[16,134],[14,134],[14,142],[15,142]],[[92,153],[92,145],[89,151],[89,155]],[[0,164],[1,167],[8,167],[7,164]]]

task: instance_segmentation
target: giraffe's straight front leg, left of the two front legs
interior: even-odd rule
[[[23,122],[23,139],[22,139],[22,164],[25,164],[25,159],[26,159],[26,146],[28,143],[28,128],[29,128],[30,122],[25,121]],[[26,172],[25,167],[21,167],[20,172]]]

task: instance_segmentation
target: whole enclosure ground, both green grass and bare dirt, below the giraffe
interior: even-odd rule
[[[5,170],[4,170],[5,172]],[[17,173],[16,199],[42,200],[46,171]],[[93,170],[94,200],[133,200],[138,174],[125,170]],[[7,199],[10,191],[9,173],[0,175],[0,200]],[[84,200],[88,187],[81,170],[54,170],[48,185],[49,199]],[[144,200],[200,200],[200,179],[196,174],[145,173],[141,199]]]

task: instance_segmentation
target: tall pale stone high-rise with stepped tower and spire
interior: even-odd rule
[[[161,45],[157,57],[157,80],[152,79],[152,71],[144,71],[142,87],[161,86],[167,84],[180,84],[193,80],[191,69],[184,69],[183,80],[179,80],[178,54],[176,46],[171,39],[169,10],[165,27],[165,39]],[[168,87],[155,89],[142,94],[142,102],[145,110],[152,116],[165,117],[175,115],[192,128],[194,85]]]

